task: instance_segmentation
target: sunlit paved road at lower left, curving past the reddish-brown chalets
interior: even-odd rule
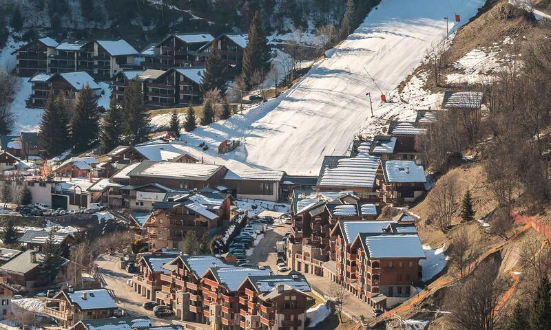
[[[145,298],[126,284],[126,281],[132,278],[125,270],[119,267],[118,256],[103,255],[97,261],[98,271],[103,278],[103,286],[114,294],[118,307],[124,309],[129,316],[149,316],[156,325],[170,325],[169,318],[156,318],[153,311],[147,311],[141,305],[146,301]]]

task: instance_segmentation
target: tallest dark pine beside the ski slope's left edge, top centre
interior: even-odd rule
[[[247,41],[247,46],[243,51],[241,75],[249,87],[251,86],[251,77],[255,71],[267,72],[270,68],[271,49],[266,36],[260,13],[256,12],[249,26],[249,41]]]

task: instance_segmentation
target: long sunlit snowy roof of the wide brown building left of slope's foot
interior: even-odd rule
[[[154,162],[151,160],[144,160],[139,166],[136,166],[134,170],[131,170],[128,175],[177,177],[178,179],[206,181],[221,168],[222,166],[220,165]]]

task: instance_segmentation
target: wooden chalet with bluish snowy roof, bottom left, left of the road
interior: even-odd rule
[[[43,312],[54,318],[60,327],[70,328],[81,320],[112,318],[117,309],[115,300],[106,289],[63,289],[46,302]]]

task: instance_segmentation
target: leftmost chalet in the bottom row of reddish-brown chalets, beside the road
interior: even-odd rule
[[[169,270],[163,268],[163,265],[173,261],[174,254],[147,254],[137,261],[140,269],[139,274],[132,278],[134,291],[145,299],[156,301],[155,294],[160,290],[160,275],[170,274]]]

